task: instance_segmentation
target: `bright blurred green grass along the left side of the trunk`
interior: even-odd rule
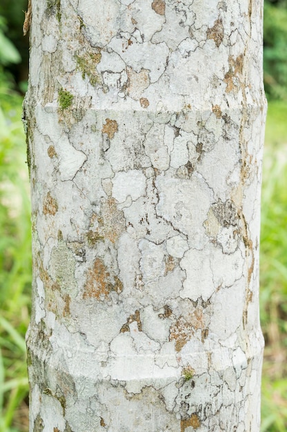
[[[28,430],[31,230],[25,150],[21,97],[0,64],[0,432]]]

